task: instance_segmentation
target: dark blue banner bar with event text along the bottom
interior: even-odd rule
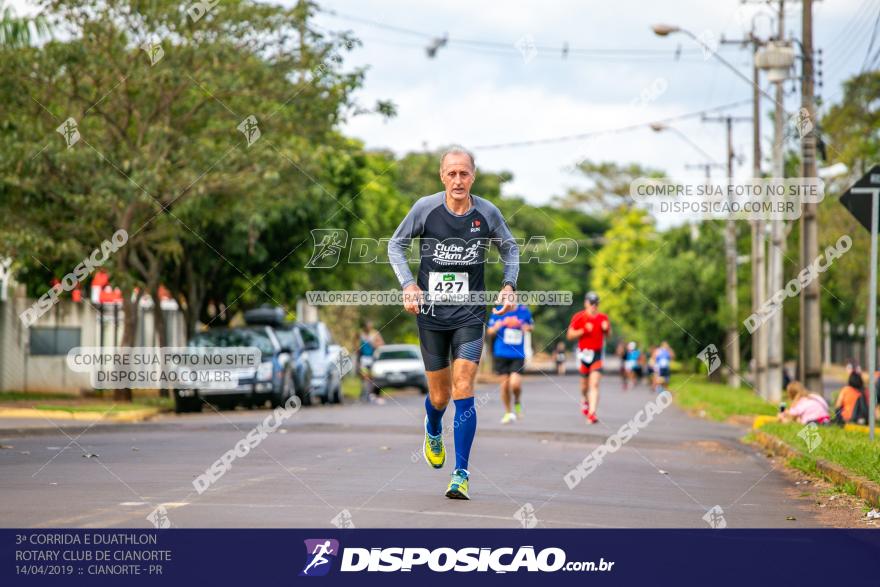
[[[0,530],[2,585],[877,584],[876,530]]]

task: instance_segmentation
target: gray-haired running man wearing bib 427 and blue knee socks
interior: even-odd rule
[[[500,249],[504,263],[496,300],[501,308],[493,309],[493,314],[516,307],[513,292],[519,274],[519,247],[501,212],[488,200],[471,194],[475,172],[474,157],[465,149],[444,153],[440,181],[445,191],[413,204],[388,243],[388,258],[403,288],[404,308],[417,315],[428,378],[422,452],[435,469],[446,462],[443,413],[450,398],[455,403],[455,469],[446,490],[446,497],[452,499],[470,499],[468,459],[477,430],[474,378],[483,351],[486,306],[436,302],[442,301],[439,296],[443,294],[467,296],[484,291],[483,265],[491,243]],[[415,237],[421,241],[417,279],[407,264],[407,249]]]

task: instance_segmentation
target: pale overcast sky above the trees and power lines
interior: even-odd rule
[[[34,10],[28,0],[11,4],[20,13]],[[566,168],[584,158],[638,162],[677,177],[701,174],[685,165],[705,163],[707,155],[724,163],[721,124],[702,123],[698,116],[671,123],[694,147],[647,123],[737,101],[743,104],[725,112],[750,115],[750,84],[711,55],[704,58],[692,39],[657,37],[650,27],[675,24],[707,40],[742,38],[753,22],[759,36],[775,30],[766,4],[739,0],[324,0],[320,5],[339,16],[320,14],[315,24],[351,30],[363,41],[346,62],[369,66],[358,100],[372,105],[390,99],[397,106],[395,118],[355,117],[345,132],[368,147],[398,154],[462,144],[475,151],[478,167],[512,172],[506,193],[533,203],[583,185]],[[786,12],[786,31],[800,37],[800,2],[787,2]],[[841,81],[862,69],[878,13],[880,0],[815,3],[814,42],[824,50],[826,104],[839,100]],[[444,33],[449,44],[428,59],[431,37]],[[529,42],[536,53],[528,51]],[[564,43],[570,48],[566,59]],[[880,38],[872,54],[878,45]],[[720,54],[751,76],[750,51],[723,45]],[[792,88],[786,84],[786,110],[796,112],[800,97]],[[762,102],[765,153],[770,106]],[[642,126],[590,139],[490,148],[634,124]],[[734,146],[742,156],[737,175],[750,175],[749,124],[736,125]]]

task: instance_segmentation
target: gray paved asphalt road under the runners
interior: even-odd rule
[[[268,410],[167,415],[95,426],[78,439],[85,424],[66,428],[69,436],[7,434],[0,524],[150,527],[146,516],[163,504],[185,528],[328,527],[343,510],[355,527],[516,528],[524,506],[538,527],[706,527],[715,505],[728,527],[819,525],[805,500],[792,497],[792,483],[738,441],[742,430],[675,406],[569,490],[565,473],[654,398],[645,388],[622,392],[607,377],[602,422],[589,426],[577,385],[577,376],[529,376],[526,417],[509,426],[499,423],[495,387],[478,387],[469,502],[443,497],[450,463],[437,472],[421,459],[423,399],[400,392],[384,406],[301,410],[201,495],[192,480]]]

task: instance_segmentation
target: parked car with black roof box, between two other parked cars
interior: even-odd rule
[[[298,322],[286,319],[283,308],[262,306],[244,313],[248,325],[261,325],[272,330],[281,344],[289,350],[287,357],[291,363],[293,383],[296,394],[304,406],[311,405],[315,397],[314,373],[309,360],[309,352],[318,348],[314,334]]]

